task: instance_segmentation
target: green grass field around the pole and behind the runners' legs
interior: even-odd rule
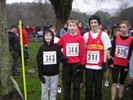
[[[37,65],[36,65],[36,60],[35,60],[36,53],[41,44],[42,42],[29,42],[30,58],[28,59],[28,65],[25,66],[25,68],[35,69],[36,73],[26,74],[28,100],[40,100],[40,97],[41,97],[41,85],[40,85],[40,81],[37,76]],[[22,67],[19,67],[18,69],[19,69],[19,72],[22,72]],[[24,93],[22,74],[21,76],[14,76],[14,78],[17,81],[21,89],[21,92]],[[104,75],[104,79],[105,79],[105,75]],[[103,85],[104,85],[104,82],[105,80],[103,81]],[[60,83],[62,82],[60,81]],[[125,86],[127,86],[127,80],[126,80]],[[61,87],[62,87],[62,84],[61,84]],[[81,90],[81,100],[84,100],[84,96],[85,96],[85,87]],[[63,100],[62,93],[57,94],[57,100]],[[111,100],[111,87],[110,86],[109,87],[103,86],[103,100]],[[116,100],[117,100],[117,97],[116,97]],[[131,100],[131,92],[124,90],[123,100]]]

